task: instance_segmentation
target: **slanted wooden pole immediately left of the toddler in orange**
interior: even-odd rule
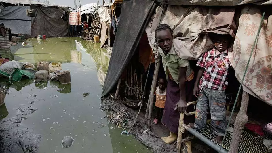
[[[155,87],[157,84],[157,79],[158,79],[158,74],[159,74],[159,67],[160,67],[160,62],[156,62],[155,63],[155,72],[153,75],[151,90],[150,90],[150,94],[149,94],[150,100],[149,100],[148,121],[147,121],[147,124],[149,125],[149,127],[151,127],[153,99],[154,99],[154,92],[155,92]]]

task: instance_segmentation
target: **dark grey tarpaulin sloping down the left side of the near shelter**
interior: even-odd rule
[[[118,82],[132,58],[154,10],[154,1],[130,0],[123,2],[121,20],[116,32],[102,96],[108,94]]]

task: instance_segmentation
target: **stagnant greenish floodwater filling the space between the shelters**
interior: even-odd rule
[[[31,64],[39,61],[61,62],[62,70],[71,71],[71,84],[1,79],[1,85],[9,89],[9,94],[5,97],[5,105],[0,107],[0,119],[16,116],[20,105],[32,106],[30,103],[34,101],[32,107],[37,110],[28,114],[28,119],[23,123],[33,128],[34,133],[41,134],[38,152],[152,152],[133,136],[120,135],[122,129],[108,125],[104,118],[106,113],[99,109],[109,63],[109,56],[99,43],[76,37],[42,41],[28,39],[26,42],[32,46],[12,46],[9,58]],[[83,97],[83,93],[90,95]],[[99,128],[93,122],[106,126]],[[111,126],[115,129],[111,129]],[[65,136],[75,139],[73,146],[62,148],[61,142]]]

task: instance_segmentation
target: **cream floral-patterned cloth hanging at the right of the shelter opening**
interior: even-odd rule
[[[265,11],[265,10],[262,10]],[[243,90],[272,106],[272,11],[266,10],[260,35],[254,40],[262,18],[259,7],[245,6],[241,9],[239,26],[233,52],[229,53],[235,76],[240,81],[244,72]],[[248,69],[246,65],[254,47]]]

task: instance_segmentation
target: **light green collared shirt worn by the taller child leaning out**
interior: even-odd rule
[[[178,84],[178,69],[179,67],[186,67],[186,81],[190,81],[193,78],[193,70],[189,64],[188,60],[181,59],[177,56],[174,45],[172,46],[171,50],[167,55],[164,54],[161,48],[158,49],[163,63],[163,68],[166,74],[166,79],[168,79],[168,68],[172,78]]]

